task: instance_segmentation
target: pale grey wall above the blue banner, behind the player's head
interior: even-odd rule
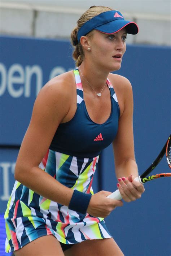
[[[91,5],[120,10],[137,22],[139,34],[127,43],[171,45],[170,1],[167,0],[1,0],[0,33],[38,38],[69,38],[80,15]]]

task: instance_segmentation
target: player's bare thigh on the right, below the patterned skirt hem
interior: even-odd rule
[[[93,239],[74,244],[65,251],[65,256],[123,256],[117,243],[113,238]]]

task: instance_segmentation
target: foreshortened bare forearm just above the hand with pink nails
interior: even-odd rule
[[[123,161],[122,164],[115,166],[115,173],[117,179],[122,177],[128,177],[130,174],[137,177],[138,167],[135,160],[128,159],[126,161]]]

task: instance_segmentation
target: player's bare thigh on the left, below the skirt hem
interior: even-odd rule
[[[60,243],[53,235],[39,237],[14,251],[15,256],[63,256]]]

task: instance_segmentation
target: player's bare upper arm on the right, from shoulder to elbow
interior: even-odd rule
[[[135,160],[133,143],[133,95],[128,79],[119,77],[118,98],[122,97],[123,111],[119,118],[118,133],[113,141],[115,166],[128,159]],[[118,99],[119,102],[119,99]]]

